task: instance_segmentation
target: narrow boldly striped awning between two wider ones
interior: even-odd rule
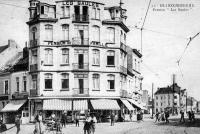
[[[73,110],[88,110],[88,102],[87,100],[74,100],[73,101]]]

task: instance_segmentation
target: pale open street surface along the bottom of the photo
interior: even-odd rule
[[[8,128],[13,125],[7,125]],[[20,134],[32,134],[34,125],[22,125]],[[7,134],[15,134],[16,128],[12,128],[6,132]],[[83,134],[83,123],[80,127],[74,124],[67,125],[63,128],[64,134]],[[110,123],[98,123],[96,125],[95,134],[200,134],[200,118],[195,123],[190,123],[186,118],[186,123],[180,123],[179,117],[171,117],[170,123],[164,122],[154,123],[154,119],[145,118],[141,122],[118,122],[114,126]]]

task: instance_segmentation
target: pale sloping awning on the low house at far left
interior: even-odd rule
[[[1,112],[15,112],[15,111],[18,111],[19,108],[22,107],[22,105],[24,105],[25,102],[26,102],[26,100],[11,101],[1,110]]]

